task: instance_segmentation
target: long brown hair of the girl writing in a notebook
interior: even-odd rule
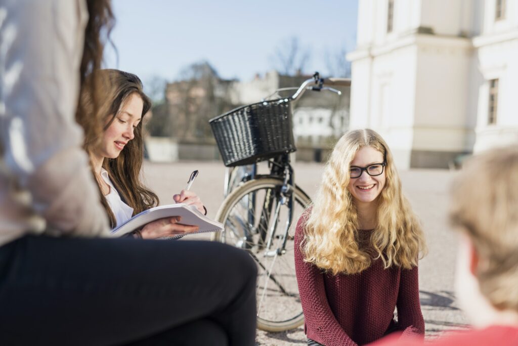
[[[106,131],[126,100],[133,94],[139,95],[142,99],[142,118],[151,108],[151,100],[143,92],[142,82],[134,74],[116,69],[102,69],[94,71],[87,80],[89,78],[97,78],[100,82],[99,88],[96,93],[86,89],[81,93],[79,103],[85,113],[84,117],[77,118],[77,122],[85,129],[84,149],[91,154],[97,147],[99,138],[102,137],[102,133],[98,134],[92,131],[92,128],[100,124],[100,126],[104,125],[103,131]],[[97,108],[97,114],[94,113],[96,108],[93,95],[97,95],[101,102]],[[105,158],[103,162],[103,168],[108,171],[110,180],[125,203],[133,208],[134,214],[159,204],[158,196],[140,181],[144,154],[142,124],[143,121],[138,123],[134,131],[135,137],[128,141],[117,158]],[[98,179],[96,177],[100,191]],[[115,217],[102,194],[101,203],[108,214],[111,226],[114,227]]]

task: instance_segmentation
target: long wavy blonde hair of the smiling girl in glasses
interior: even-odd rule
[[[358,214],[347,186],[351,162],[356,152],[367,146],[383,154],[386,181],[378,196],[376,228],[368,247],[362,247],[358,241]],[[385,269],[410,269],[426,252],[421,224],[401,192],[392,153],[383,138],[371,129],[350,131],[337,142],[304,230],[301,251],[305,261],[333,275],[362,272],[378,258]]]

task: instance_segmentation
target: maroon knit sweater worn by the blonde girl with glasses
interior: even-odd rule
[[[383,269],[377,259],[359,274],[326,274],[304,262],[300,252],[306,217],[299,219],[295,231],[295,270],[307,337],[325,346],[363,345],[394,329],[403,330],[402,338],[422,338],[418,268]]]

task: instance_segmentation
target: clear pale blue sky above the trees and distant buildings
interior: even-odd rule
[[[327,73],[326,56],[353,50],[357,0],[113,0],[116,27],[106,66],[178,78],[191,63],[208,61],[222,78],[249,80],[275,67],[276,47],[290,37],[311,51],[305,72]]]

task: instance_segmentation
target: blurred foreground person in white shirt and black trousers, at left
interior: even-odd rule
[[[247,253],[110,238],[74,118],[112,22],[107,0],[0,3],[0,344],[253,345]]]

